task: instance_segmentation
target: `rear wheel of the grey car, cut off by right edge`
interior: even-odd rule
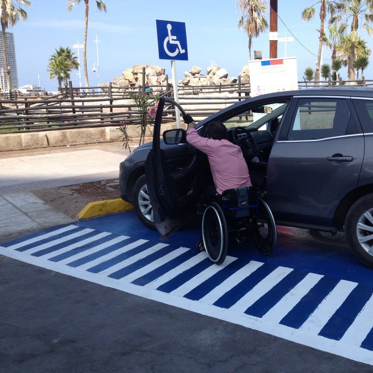
[[[344,231],[356,257],[373,268],[373,194],[361,197],[351,206]]]

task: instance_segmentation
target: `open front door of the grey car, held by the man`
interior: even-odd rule
[[[169,98],[160,98],[155,116],[153,149],[145,164],[145,176],[153,206],[154,224],[161,238],[167,238],[196,212],[199,186],[196,150],[186,143],[186,131],[175,129],[172,138],[161,141],[161,124],[170,110],[183,108]]]

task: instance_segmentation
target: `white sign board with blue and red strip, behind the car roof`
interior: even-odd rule
[[[296,57],[249,61],[250,96],[298,89]]]

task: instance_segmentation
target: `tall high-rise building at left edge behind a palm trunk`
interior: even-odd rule
[[[17,59],[16,59],[16,48],[14,44],[13,33],[5,33],[5,45],[6,45],[6,57],[8,60],[11,88],[18,88],[18,73],[17,73]],[[0,33],[0,87],[1,91],[8,90],[8,84],[5,76],[5,65],[2,54],[2,35]]]

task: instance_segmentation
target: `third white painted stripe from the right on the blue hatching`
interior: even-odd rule
[[[265,315],[262,320],[280,322],[300,300],[322,279],[321,274],[308,273],[288,294],[278,301]]]

